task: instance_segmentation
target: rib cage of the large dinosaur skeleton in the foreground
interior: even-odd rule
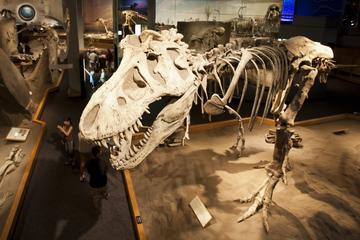
[[[260,105],[265,95],[265,90],[267,90],[267,94],[264,111],[262,113],[263,119],[268,115],[271,106],[275,109],[279,108],[279,105],[283,104],[281,102],[275,103],[274,98],[275,94],[279,91],[288,90],[286,88],[289,79],[289,64],[286,52],[282,46],[259,46],[247,49],[242,48],[239,50],[217,48],[207,52],[204,56],[210,62],[206,69],[208,75],[212,75],[213,79],[216,80],[223,96],[225,93],[230,94],[231,96],[227,99],[227,102],[224,102],[224,104],[231,102],[235,92],[235,88],[228,88],[226,89],[226,92],[224,91],[224,78],[229,75],[229,72],[231,72],[230,75],[234,75],[236,69],[239,67],[239,62],[243,57],[244,52],[250,53],[251,59],[246,63],[245,69],[241,73],[241,79],[232,79],[232,81],[237,82],[237,88],[239,87],[238,82],[241,80],[244,81],[244,85],[241,90],[241,97],[236,109],[238,113],[244,102],[249,82],[256,84],[256,92],[250,116],[251,120],[249,123],[249,129],[251,130],[254,126],[256,116],[259,113]],[[249,71],[254,70],[256,75],[251,76]],[[202,89],[204,90],[204,88]],[[205,95],[207,96],[207,93],[205,93]],[[274,106],[274,104],[277,106]]]

